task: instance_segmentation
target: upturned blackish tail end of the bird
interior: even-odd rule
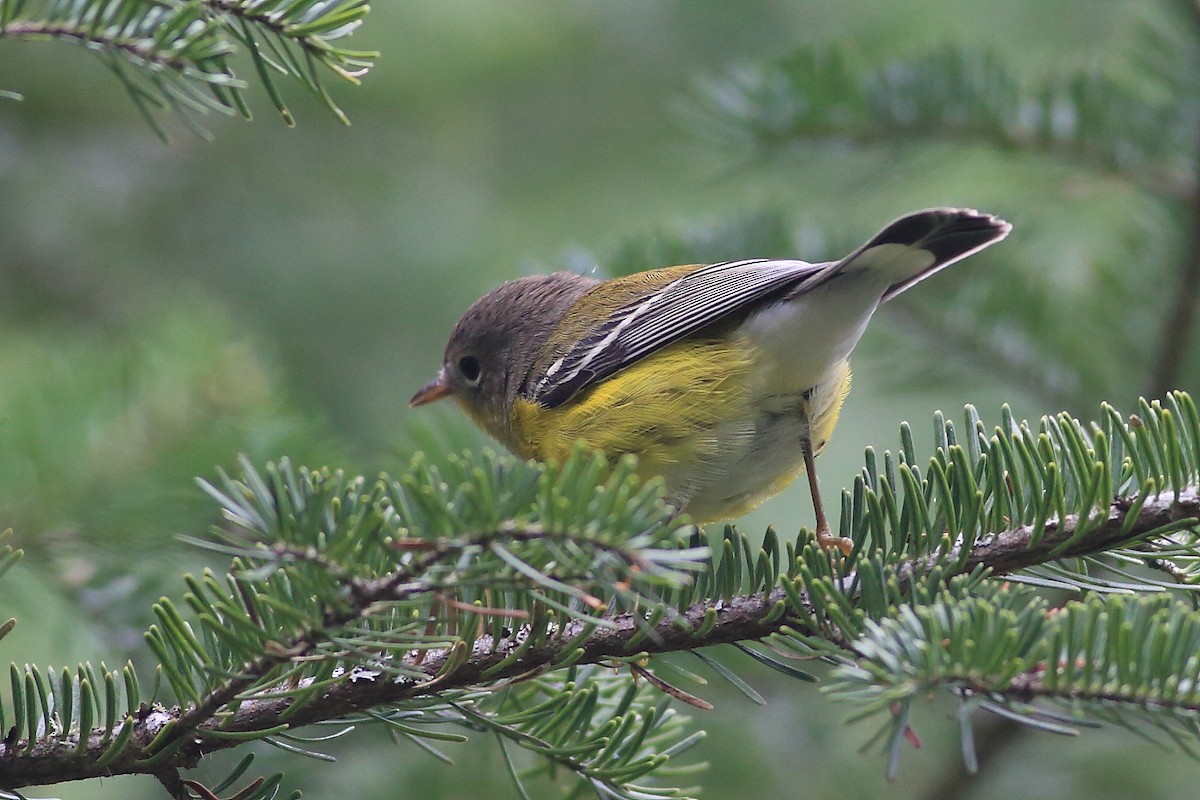
[[[1012,225],[974,209],[928,209],[900,217],[836,263],[830,275],[870,270],[890,281],[890,300],[954,261],[1008,235]]]

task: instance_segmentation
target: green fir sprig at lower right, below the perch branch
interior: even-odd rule
[[[1072,723],[1088,717],[1134,729],[1146,721],[1190,751],[1200,730],[1198,646],[1200,613],[1171,597],[1100,595],[1049,608],[1000,588],[869,624],[860,657],[836,670],[830,692],[865,718],[950,688],[964,722],[977,708],[1055,733],[1074,733]]]

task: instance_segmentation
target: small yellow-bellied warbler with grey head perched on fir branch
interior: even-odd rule
[[[848,356],[880,303],[1010,230],[972,209],[901,217],[838,261],[689,264],[611,281],[518,278],[458,320],[410,405],[454,397],[523,458],[578,440],[644,477],[697,523],[730,519],[802,471],[817,541],[830,534],[812,459],[850,391]]]

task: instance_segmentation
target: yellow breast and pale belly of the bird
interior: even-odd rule
[[[767,393],[760,356],[736,335],[684,339],[558,408],[517,399],[511,445],[540,461],[566,458],[580,440],[610,462],[634,453],[638,474],[661,476],[692,519],[731,519],[800,474],[800,439],[820,452],[850,387],[841,362],[811,391]]]

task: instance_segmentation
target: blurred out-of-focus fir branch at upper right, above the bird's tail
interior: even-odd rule
[[[946,46],[888,64],[804,47],[700,88],[696,127],[769,152],[800,142],[916,140],[1043,152],[1169,197],[1195,191],[1190,109],[1099,70],[1024,82],[995,53]],[[1186,67],[1181,66],[1181,70]]]

